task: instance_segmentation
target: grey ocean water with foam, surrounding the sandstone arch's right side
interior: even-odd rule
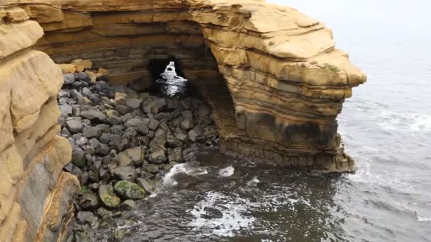
[[[326,23],[367,74],[338,117],[358,171],[258,169],[204,151],[125,214],[125,241],[431,241],[431,2],[273,2]]]

